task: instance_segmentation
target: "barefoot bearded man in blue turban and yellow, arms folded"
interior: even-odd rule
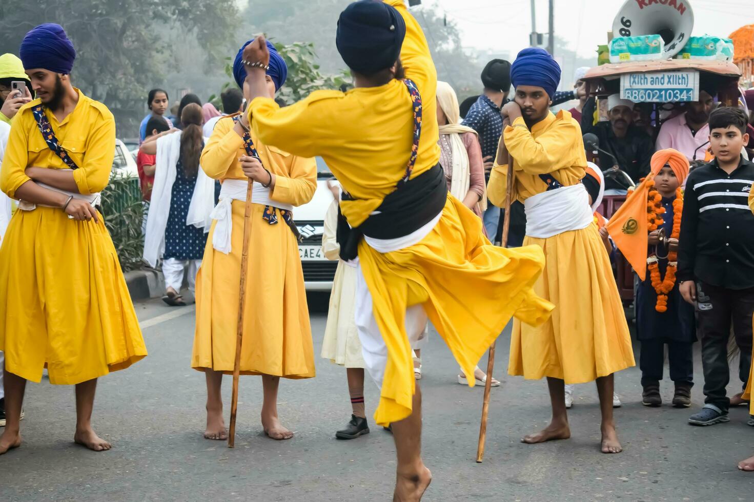
[[[11,126],[0,189],[20,200],[0,247],[0,350],[5,415],[0,454],[21,444],[26,381],[75,385],[74,440],[93,451],[109,442],[91,426],[97,378],[146,356],[118,263],[97,211],[115,155],[115,120],[71,85],[76,51],[63,28],[43,24],[21,42],[38,96]]]

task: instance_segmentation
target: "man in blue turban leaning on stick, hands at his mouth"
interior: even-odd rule
[[[547,264],[535,292],[556,305],[541,326],[513,321],[510,375],[547,377],[553,418],[537,443],[568,439],[564,384],[596,380],[602,410],[603,453],[622,450],[612,416],[613,373],[633,366],[626,318],[605,246],[593,222],[581,179],[587,168],[578,122],[553,115],[560,67],[540,48],[521,51],[510,70],[515,100],[502,109],[505,127],[489,179],[492,204],[503,206],[507,184],[526,208],[524,244],[540,246]],[[513,158],[513,180],[507,170]]]

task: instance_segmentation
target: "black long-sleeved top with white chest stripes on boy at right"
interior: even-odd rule
[[[716,160],[691,171],[683,197],[679,281],[754,287],[754,214],[748,204],[752,184],[754,164],[743,157],[731,174]]]

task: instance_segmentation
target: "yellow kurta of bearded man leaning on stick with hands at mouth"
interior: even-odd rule
[[[563,186],[584,177],[581,129],[569,112],[548,114],[531,132],[523,118],[517,118],[503,139],[514,159],[514,199],[523,202],[546,191],[540,174],[553,176]],[[505,201],[507,169],[507,164],[495,164],[487,187],[489,200],[499,207]],[[508,373],[580,384],[633,366],[618,286],[596,225],[547,239],[527,236],[524,244],[544,251],[547,262],[535,292],[553,302],[555,310],[541,326],[513,322]]]

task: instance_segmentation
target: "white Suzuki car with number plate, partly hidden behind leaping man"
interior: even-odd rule
[[[325,213],[333,204],[333,192],[327,182],[334,179],[327,164],[317,157],[317,191],[314,197],[303,206],[293,209],[293,219],[303,238],[299,243],[299,256],[304,269],[304,283],[307,291],[329,291],[333,289],[338,262],[326,259],[322,253]]]

